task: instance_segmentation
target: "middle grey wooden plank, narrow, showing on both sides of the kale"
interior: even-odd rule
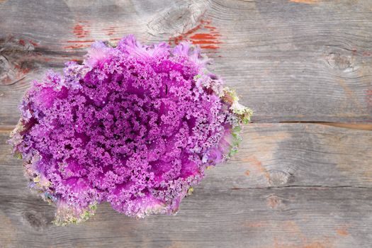
[[[20,177],[21,161],[0,132],[0,186],[9,174]],[[372,187],[372,132],[317,124],[250,124],[239,152],[206,171],[224,188],[286,186]],[[18,180],[19,181],[19,180]],[[5,184],[4,184],[5,186]],[[215,184],[205,184],[215,189]]]

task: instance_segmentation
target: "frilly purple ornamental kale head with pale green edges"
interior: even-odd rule
[[[103,201],[139,218],[176,213],[205,168],[237,151],[252,111],[207,63],[190,43],[128,35],[33,81],[10,142],[56,224],[82,222]]]

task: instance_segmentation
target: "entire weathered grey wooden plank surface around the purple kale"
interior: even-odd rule
[[[201,45],[254,123],[176,216],[55,227],[6,145],[18,103],[128,33]],[[370,0],[0,0],[0,247],[372,247],[371,121]]]

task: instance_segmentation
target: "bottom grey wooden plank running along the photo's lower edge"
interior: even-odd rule
[[[207,182],[204,182],[205,184]],[[22,191],[1,196],[2,247],[371,247],[370,188],[196,191],[176,216],[135,220],[98,208],[55,227],[53,208]]]

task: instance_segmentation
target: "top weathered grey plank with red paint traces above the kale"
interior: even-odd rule
[[[204,47],[257,123],[371,122],[371,9],[371,1],[3,1],[0,125],[16,123],[30,80],[81,59],[91,40],[128,33]]]

